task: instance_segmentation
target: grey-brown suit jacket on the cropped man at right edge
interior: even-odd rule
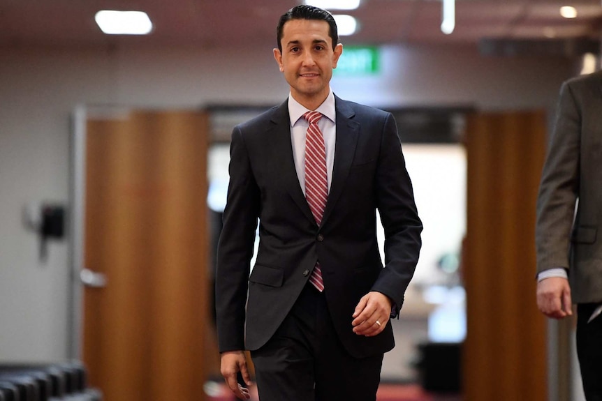
[[[537,202],[538,272],[567,268],[575,303],[602,301],[602,72],[560,90]]]

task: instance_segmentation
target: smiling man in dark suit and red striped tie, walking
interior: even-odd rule
[[[292,8],[277,41],[290,96],[232,135],[216,272],[221,372],[249,398],[236,380],[251,384],[249,349],[262,401],[375,400],[422,231],[397,128],[330,90],[342,54],[330,13]]]

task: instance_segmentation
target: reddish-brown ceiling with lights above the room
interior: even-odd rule
[[[275,45],[279,16],[295,0],[0,0],[1,47]],[[567,20],[559,7],[574,6]],[[107,36],[94,22],[101,9],[144,10],[149,36]],[[490,40],[566,41],[602,37],[601,0],[457,0],[455,31],[444,35],[440,0],[362,0],[348,12],[360,31],[351,45],[476,44]],[[553,36],[555,40],[546,37]]]

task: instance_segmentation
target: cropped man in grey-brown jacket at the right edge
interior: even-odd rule
[[[602,401],[601,112],[602,72],[562,85],[537,203],[538,307],[561,319],[577,303],[587,401]]]

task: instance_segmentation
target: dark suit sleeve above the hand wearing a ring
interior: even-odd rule
[[[385,230],[385,267],[372,290],[386,294],[394,301],[392,316],[396,316],[416,270],[423,225],[418,218],[412,183],[391,114],[387,115],[383,125],[376,180],[377,206]]]

